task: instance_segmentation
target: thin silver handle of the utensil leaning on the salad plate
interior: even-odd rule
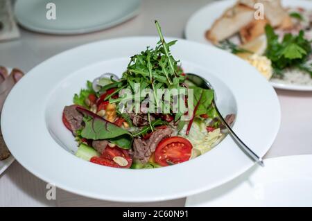
[[[256,153],[254,153],[252,150],[250,150],[250,148],[248,148],[247,145],[245,145],[245,143],[239,138],[239,136],[237,136],[234,131],[232,130],[232,128],[227,124],[227,122],[225,121],[225,118],[223,118],[223,116],[220,114],[218,107],[216,107],[216,103],[214,102],[214,100],[212,100],[212,105],[214,105],[214,108],[216,109],[216,112],[218,114],[218,116],[220,117],[220,120],[222,121],[222,123],[225,125],[225,127],[227,127],[227,130],[229,130],[229,134],[232,135],[232,137],[234,137],[234,139],[236,139],[236,141],[240,144],[241,149],[248,154],[248,156],[253,159],[256,163],[259,163],[260,166],[264,166],[263,160],[261,157],[259,157]]]

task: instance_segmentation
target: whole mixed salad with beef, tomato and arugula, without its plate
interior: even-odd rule
[[[225,136],[211,105],[214,91],[187,79],[171,54],[176,41],[159,42],[130,58],[117,78],[87,81],[64,107],[62,122],[78,143],[76,156],[114,168],[159,168],[189,161]],[[234,122],[234,114],[226,117]]]

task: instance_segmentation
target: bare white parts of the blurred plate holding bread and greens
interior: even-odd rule
[[[211,25],[220,17],[223,12],[234,5],[236,0],[223,0],[209,3],[204,8],[201,8],[187,21],[185,28],[185,37],[194,42],[200,42],[205,44],[211,44],[205,37],[205,32]],[[306,9],[312,9],[312,1],[305,0],[282,0],[283,6],[302,7]],[[287,85],[279,84],[276,82],[270,82],[270,84],[277,89],[288,89],[294,91],[312,91],[312,86],[304,85]]]

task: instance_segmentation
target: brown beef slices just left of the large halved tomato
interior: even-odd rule
[[[149,139],[135,138],[133,142],[133,159],[139,160],[141,163],[147,163],[150,155],[155,152],[157,145],[162,139],[171,136],[173,130],[170,127],[158,129],[153,132]]]

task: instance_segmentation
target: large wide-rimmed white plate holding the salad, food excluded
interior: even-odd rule
[[[4,139],[19,163],[67,191],[125,202],[192,195],[248,170],[254,163],[230,136],[196,159],[153,170],[110,168],[73,156],[76,143],[61,121],[64,106],[72,103],[73,94],[85,87],[86,80],[105,72],[120,76],[131,55],[155,46],[158,40],[128,37],[86,44],[55,55],[27,73],[9,94],[1,121]],[[178,39],[172,51],[184,71],[210,80],[221,112],[237,114],[234,130],[262,157],[280,123],[279,101],[265,78],[243,60],[212,46]]]

